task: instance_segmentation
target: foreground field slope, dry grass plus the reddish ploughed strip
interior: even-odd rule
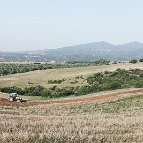
[[[143,142],[142,92],[131,89],[75,100],[26,103],[27,106],[1,104],[0,142]]]

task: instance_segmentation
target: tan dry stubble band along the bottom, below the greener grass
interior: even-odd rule
[[[5,122],[6,120],[6,122]],[[142,117],[124,116],[5,116],[1,142],[142,142]]]

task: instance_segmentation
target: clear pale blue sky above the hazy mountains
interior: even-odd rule
[[[0,0],[0,51],[143,42],[143,0]]]

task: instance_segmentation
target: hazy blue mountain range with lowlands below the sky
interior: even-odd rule
[[[0,53],[0,59],[13,61],[93,61],[143,58],[143,43],[113,45],[104,41],[20,53]]]

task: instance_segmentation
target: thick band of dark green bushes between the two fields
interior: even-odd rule
[[[71,95],[79,96],[100,91],[108,91],[126,88],[143,88],[143,70],[140,69],[117,69],[114,72],[99,72],[88,77],[78,77],[78,80],[84,80],[84,84],[68,85],[60,87],[59,84],[45,88],[41,85],[29,86],[24,89],[19,87],[0,87],[4,93],[16,92],[19,95],[41,96],[46,98],[67,97]],[[66,79],[64,79],[66,80]],[[77,81],[78,81],[77,80]],[[51,80],[50,82],[63,82],[63,80]]]

